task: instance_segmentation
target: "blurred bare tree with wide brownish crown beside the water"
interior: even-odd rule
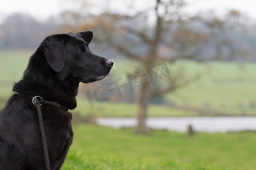
[[[204,58],[213,59],[216,56],[220,57],[222,55],[221,48],[226,47],[230,51],[234,51],[229,39],[221,39],[215,43],[214,37],[224,30],[225,21],[197,17],[196,22],[204,25],[207,31],[196,31],[193,26],[189,25],[195,21],[195,18],[188,18],[181,13],[181,8],[185,5],[184,0],[154,1],[154,6],[141,11],[135,10],[136,12],[131,12],[131,14],[129,12],[129,14],[110,12],[107,8],[103,14],[91,16],[91,19],[76,29],[78,31],[83,28],[92,28],[98,32],[96,39],[98,42],[107,41],[106,45],[128,58],[140,62],[144,68],[149,68],[160,61],[174,63],[179,59],[195,59],[196,61],[203,61]],[[206,55],[205,50],[211,46],[210,44],[216,46],[217,54]],[[139,46],[144,48],[142,53],[137,53],[134,50]],[[167,50],[163,53],[165,49]],[[172,77],[167,86],[157,90],[152,90],[152,86],[148,82],[143,82],[143,80],[140,82],[136,133],[149,133],[146,118],[148,101],[151,97],[162,96],[188,86],[203,75],[195,73],[186,78],[182,74],[182,69],[179,71],[179,75]]]

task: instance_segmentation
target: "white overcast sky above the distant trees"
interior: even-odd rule
[[[142,4],[138,6],[144,6],[145,2],[147,4],[147,2],[152,0],[141,1]],[[3,0],[0,4],[0,14],[6,15],[13,12],[26,12],[39,20],[46,20],[48,16],[58,14],[63,10],[76,10],[75,2],[76,0]],[[105,1],[93,0],[92,2],[101,3]],[[126,6],[122,6],[122,2],[124,1],[119,0],[118,5],[114,7],[126,8]],[[221,13],[225,10],[237,9],[256,20],[255,0],[187,0],[187,2],[189,3],[188,12],[191,13],[207,10],[215,10]]]

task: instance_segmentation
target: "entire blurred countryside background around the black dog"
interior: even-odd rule
[[[255,28],[250,0],[5,1],[0,108],[46,36],[92,31],[114,66],[80,83],[63,169],[254,169]]]

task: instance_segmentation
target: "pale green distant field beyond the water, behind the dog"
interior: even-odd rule
[[[21,78],[24,69],[26,69],[28,57],[32,53],[29,50],[0,51],[0,107],[3,107],[6,99],[11,95],[13,83]],[[134,69],[130,68],[131,65],[134,65]],[[135,66],[138,65],[127,64],[127,61],[115,61],[112,75],[122,77],[123,81],[127,83],[126,75],[133,73]],[[182,61],[169,65],[168,68],[172,76],[178,75],[176,70],[179,68],[187,73],[187,77],[196,73],[204,74],[197,82],[165,96],[166,100],[175,103],[176,108],[151,105],[150,116],[209,116],[212,112],[221,115],[256,114],[255,63],[238,65],[238,63],[228,62],[195,63]],[[106,82],[108,81],[111,82],[106,79]],[[105,117],[130,117],[134,116],[137,111],[134,104],[127,103],[96,102],[94,107],[90,108],[85,96],[85,92],[80,91],[78,108],[74,112]],[[192,109],[184,109],[189,107]],[[198,108],[205,109],[208,113],[199,112]],[[104,109],[104,114],[102,114],[102,109]]]

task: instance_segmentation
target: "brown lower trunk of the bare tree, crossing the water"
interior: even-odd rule
[[[135,133],[138,134],[148,134],[150,130],[147,128],[146,120],[147,120],[147,105],[148,105],[148,93],[149,93],[149,86],[147,84],[143,84],[144,88],[141,88],[139,91],[139,111],[138,111],[138,124],[135,127]]]

